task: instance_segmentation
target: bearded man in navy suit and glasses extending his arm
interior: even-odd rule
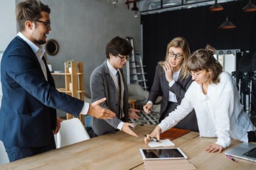
[[[50,12],[40,1],[20,2],[16,7],[20,32],[2,56],[0,140],[10,161],[55,149],[54,134],[61,122],[55,109],[75,117],[87,113],[102,119],[115,117],[99,106],[105,98],[89,105],[55,89],[41,47],[51,30]]]

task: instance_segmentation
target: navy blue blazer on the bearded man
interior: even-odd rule
[[[84,101],[56,90],[46,70],[48,81],[30,46],[19,36],[10,42],[1,61],[0,140],[5,146],[46,146],[56,125],[55,109],[80,114]]]

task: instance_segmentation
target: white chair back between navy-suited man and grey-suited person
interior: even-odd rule
[[[78,118],[62,121],[57,134],[57,148],[90,139],[84,125]]]

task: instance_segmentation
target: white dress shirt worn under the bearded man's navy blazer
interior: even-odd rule
[[[27,44],[29,44],[29,47],[35,53],[35,56],[37,56],[37,60],[40,63],[41,69],[43,70],[43,75],[44,75],[45,80],[48,81],[46,65],[44,64],[44,61],[43,61],[43,55],[45,53],[45,49],[42,46],[37,45],[34,42],[30,41],[21,32],[18,32],[17,36],[20,36],[21,39],[23,39],[25,42],[27,42]],[[84,107],[82,108],[82,111],[80,114],[87,115],[88,109],[89,109],[89,103],[84,103]]]

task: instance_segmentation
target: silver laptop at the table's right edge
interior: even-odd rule
[[[236,146],[236,148],[229,149],[229,151],[224,154],[245,160],[256,161],[256,144],[242,143],[239,146]]]

